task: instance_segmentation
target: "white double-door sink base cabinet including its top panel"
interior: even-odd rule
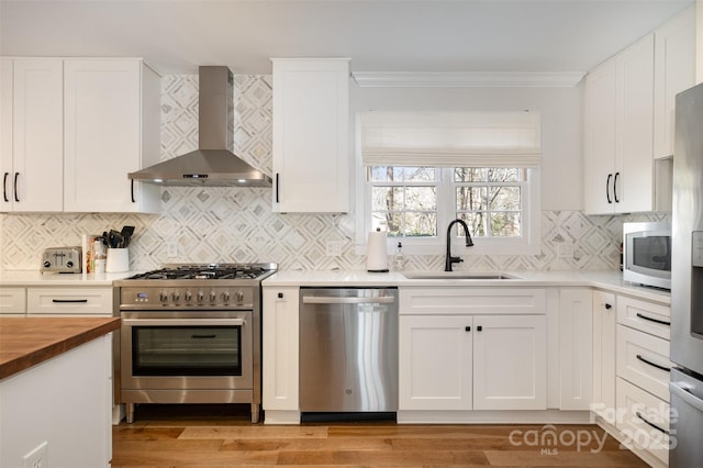
[[[400,311],[399,411],[546,410],[544,290],[401,289]]]

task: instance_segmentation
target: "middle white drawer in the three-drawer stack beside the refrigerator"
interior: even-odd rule
[[[617,325],[617,376],[669,401],[669,342]]]

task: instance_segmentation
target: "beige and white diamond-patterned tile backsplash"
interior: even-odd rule
[[[167,76],[161,94],[161,159],[198,147],[198,76]],[[235,153],[271,174],[271,77],[236,76]],[[279,214],[271,211],[270,189],[164,188],[161,214],[46,213],[2,214],[3,270],[38,269],[45,247],[80,245],[82,234],[134,225],[130,246],[133,270],[165,263],[276,261],[282,269],[361,270],[355,255],[354,214]],[[620,263],[622,224],[663,221],[668,214],[587,216],[579,211],[542,212],[538,255],[467,256],[457,269],[614,270]],[[326,243],[342,241],[341,256],[325,255]],[[168,256],[169,243],[177,256]],[[559,258],[559,245],[573,256]],[[409,256],[409,270],[439,270],[444,256]]]

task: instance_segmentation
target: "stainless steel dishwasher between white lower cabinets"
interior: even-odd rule
[[[301,288],[300,410],[398,410],[397,288]]]

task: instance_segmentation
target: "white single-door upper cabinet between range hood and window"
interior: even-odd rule
[[[349,209],[349,60],[274,62],[274,212]]]

